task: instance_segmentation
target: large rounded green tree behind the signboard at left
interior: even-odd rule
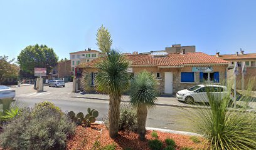
[[[46,45],[27,46],[18,56],[18,63],[23,72],[34,76],[34,68],[46,68],[47,73],[56,66],[58,56]]]

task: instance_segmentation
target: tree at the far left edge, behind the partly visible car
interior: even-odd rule
[[[19,68],[13,63],[14,59],[8,60],[8,56],[0,56],[0,84],[5,78],[17,78]]]

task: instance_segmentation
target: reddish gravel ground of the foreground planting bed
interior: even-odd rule
[[[201,149],[202,144],[196,144],[191,141],[190,136],[180,134],[163,133],[156,131],[159,140],[164,143],[164,139],[171,138],[176,142],[176,149],[183,147]],[[138,134],[131,131],[119,131],[119,135],[115,139],[109,137],[109,131],[104,124],[92,124],[90,128],[77,126],[75,136],[73,136],[67,143],[67,149],[94,149],[95,141],[99,141],[100,147],[109,144],[115,144],[116,149],[149,149],[148,140],[154,139],[151,137],[152,131],[147,131],[146,140],[140,141]],[[203,141],[203,138],[200,138]],[[98,146],[99,146],[98,143]],[[165,144],[164,144],[165,147]],[[97,148],[96,148],[97,149]],[[98,148],[99,149],[99,148]]]

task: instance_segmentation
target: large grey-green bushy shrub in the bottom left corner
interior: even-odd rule
[[[54,106],[55,107],[55,106]],[[53,107],[53,108],[54,108]],[[35,111],[36,110],[36,111]],[[23,109],[3,127],[0,144],[4,149],[65,149],[75,124],[52,107]]]

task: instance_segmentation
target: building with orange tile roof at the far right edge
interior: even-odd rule
[[[221,58],[229,62],[228,64],[228,79],[233,79],[233,68],[235,67],[235,63],[237,62],[238,66],[238,75],[237,75],[237,88],[242,89],[242,67],[243,64],[245,64],[246,67],[246,74],[244,75],[245,78],[245,89],[248,88],[250,81],[253,79],[256,79],[256,53],[247,53],[245,54],[242,49],[240,49],[240,53],[236,52],[235,54],[223,54],[216,53],[216,58]],[[252,87],[254,90],[256,90],[256,85]]]

